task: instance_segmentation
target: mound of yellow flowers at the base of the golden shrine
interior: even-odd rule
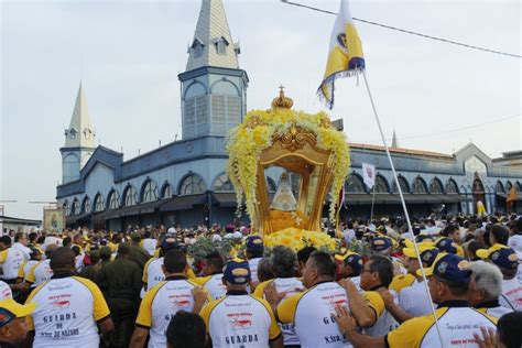
[[[315,247],[334,252],[337,248],[337,241],[324,232],[307,231],[293,227],[264,236],[264,244],[268,248],[285,246],[295,251],[304,247]]]

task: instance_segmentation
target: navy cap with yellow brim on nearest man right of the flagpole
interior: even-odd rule
[[[436,275],[449,282],[469,283],[471,271],[468,269],[469,262],[454,253],[441,252],[432,267],[425,268],[426,276]],[[417,270],[417,275],[422,275]]]

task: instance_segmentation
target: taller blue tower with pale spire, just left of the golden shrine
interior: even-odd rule
[[[225,137],[247,112],[247,72],[239,68],[221,0],[203,0],[182,84],[183,139]]]

